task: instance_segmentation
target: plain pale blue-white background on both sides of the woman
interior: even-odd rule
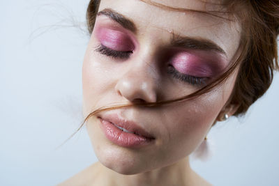
[[[89,1],[0,1],[0,185],[56,185],[96,162],[82,129],[81,68]],[[213,185],[279,185],[279,76],[244,118],[209,133],[214,155],[191,160]],[[57,148],[59,147],[59,148]]]

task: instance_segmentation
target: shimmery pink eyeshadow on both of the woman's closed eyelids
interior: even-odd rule
[[[138,46],[133,34],[115,24],[97,23],[94,34],[102,45],[115,51],[131,52]],[[210,78],[227,66],[222,55],[211,51],[174,49],[170,53],[169,63],[184,75]]]

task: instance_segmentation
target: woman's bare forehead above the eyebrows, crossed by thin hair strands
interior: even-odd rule
[[[223,6],[218,5],[220,1],[157,0],[152,2],[153,4],[149,0],[102,0],[99,11],[111,8],[121,13],[135,23],[140,36],[150,40],[163,40],[171,33],[205,38],[223,48],[228,59],[232,58],[239,47],[241,28],[238,22],[206,13],[187,11],[187,9],[201,12],[225,11]]]

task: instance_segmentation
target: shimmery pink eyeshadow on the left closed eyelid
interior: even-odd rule
[[[116,51],[132,51],[134,45],[125,33],[113,29],[98,29],[96,37],[102,45]]]

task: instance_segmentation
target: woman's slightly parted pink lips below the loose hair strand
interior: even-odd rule
[[[150,144],[155,139],[140,125],[123,119],[117,114],[98,117],[98,119],[107,139],[119,146],[140,147]]]

